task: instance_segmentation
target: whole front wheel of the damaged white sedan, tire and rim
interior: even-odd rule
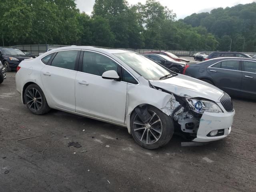
[[[170,116],[154,106],[148,106],[148,112],[152,116],[149,121],[151,125],[142,123],[135,111],[132,113],[130,119],[131,133],[135,142],[143,148],[157,149],[170,141],[174,133],[174,124]]]

